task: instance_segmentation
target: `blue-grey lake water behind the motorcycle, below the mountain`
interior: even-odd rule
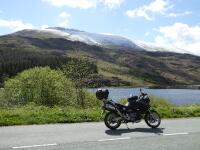
[[[90,89],[96,92],[96,89]],[[127,98],[130,94],[139,95],[139,88],[108,88],[109,96],[113,100]],[[144,93],[163,97],[168,101],[178,104],[200,104],[200,90],[194,89],[142,89]]]

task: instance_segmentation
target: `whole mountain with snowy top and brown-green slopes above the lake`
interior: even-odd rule
[[[200,84],[200,57],[169,51],[74,29],[22,30],[0,37],[0,77],[34,66],[57,68],[83,56],[98,67],[98,75],[88,80],[106,86]]]

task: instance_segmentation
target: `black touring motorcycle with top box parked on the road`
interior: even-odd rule
[[[151,128],[157,128],[161,123],[160,115],[151,109],[150,99],[147,93],[140,89],[140,96],[131,96],[128,98],[127,105],[122,105],[108,100],[109,91],[107,89],[98,89],[96,97],[103,101],[103,110],[106,111],[104,118],[105,125],[115,130],[121,123],[138,123],[144,118],[146,124]]]

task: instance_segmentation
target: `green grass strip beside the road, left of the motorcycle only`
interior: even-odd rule
[[[102,120],[101,109],[77,109],[74,107],[53,107],[27,105],[0,110],[0,126],[74,123]]]

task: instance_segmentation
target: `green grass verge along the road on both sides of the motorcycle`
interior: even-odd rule
[[[126,103],[126,100],[120,100]],[[200,105],[176,106],[163,98],[151,96],[152,107],[162,118],[200,117]],[[100,107],[46,107],[34,104],[0,108],[0,126],[49,123],[97,122],[103,120]]]

